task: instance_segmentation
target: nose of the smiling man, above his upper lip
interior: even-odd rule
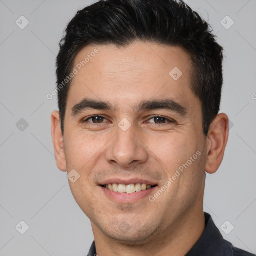
[[[108,144],[105,154],[110,164],[132,167],[148,159],[148,150],[143,135],[134,125],[126,131],[116,126],[115,135]]]

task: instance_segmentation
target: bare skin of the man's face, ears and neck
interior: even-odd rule
[[[64,135],[59,112],[51,114],[57,166],[80,175],[69,185],[91,220],[98,255],[185,255],[205,227],[205,171],[214,173],[223,159],[228,117],[218,114],[204,136],[201,103],[190,89],[191,61],[183,49],[141,41],[125,48],[89,45],[78,52],[74,67],[95,48],[99,52],[72,80]],[[176,81],[169,75],[175,66],[183,73]],[[86,109],[72,116],[72,107],[84,97],[110,102],[116,109]],[[134,105],[152,98],[174,99],[187,114],[134,112]],[[94,126],[92,119],[82,122],[92,115],[105,119]],[[174,122],[159,123],[155,116]],[[131,124],[126,131],[117,125],[123,118]],[[147,196],[117,203],[98,186],[106,178],[144,178],[154,181],[157,191],[197,151],[200,156],[154,202]],[[126,231],[119,228],[122,222]]]

